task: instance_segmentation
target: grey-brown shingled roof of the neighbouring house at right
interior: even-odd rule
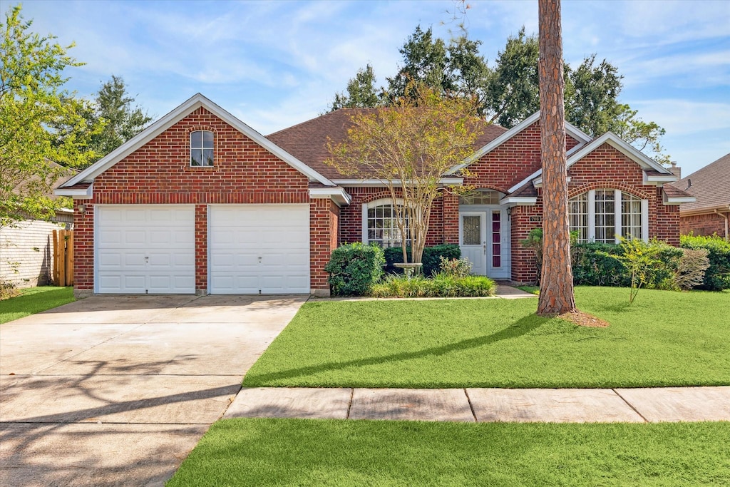
[[[730,154],[707,164],[672,185],[697,199],[694,203],[682,204],[681,213],[730,207]]]

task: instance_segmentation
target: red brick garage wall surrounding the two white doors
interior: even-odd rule
[[[189,134],[195,130],[215,134],[212,167],[190,166]],[[83,202],[86,215],[76,213],[74,223],[76,288],[93,289],[94,204],[196,204],[196,288],[207,289],[207,204],[310,203],[308,185],[301,172],[199,108],[96,177],[93,199]],[[319,207],[312,205],[320,216]],[[330,240],[330,212],[321,216],[326,217],[326,233],[315,234],[320,222],[312,220],[313,242]],[[321,259],[315,253],[312,259],[312,285],[320,285]]]

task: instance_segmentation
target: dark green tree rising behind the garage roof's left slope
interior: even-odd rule
[[[152,121],[147,112],[134,105],[134,97],[127,93],[120,76],[112,74],[112,79],[101,85],[93,104],[96,109],[94,122],[102,128],[99,134],[91,137],[91,147],[99,157],[139,134]]]

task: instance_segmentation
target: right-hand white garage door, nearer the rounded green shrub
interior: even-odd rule
[[[310,292],[308,204],[211,205],[210,292]]]

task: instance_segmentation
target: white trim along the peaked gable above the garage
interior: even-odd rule
[[[158,135],[162,134],[164,131],[172,127],[175,123],[183,120],[183,118],[190,115],[192,112],[198,110],[201,107],[203,107],[205,110],[208,110],[216,117],[220,118],[220,120],[223,120],[223,122],[228,123],[228,125],[232,126],[234,129],[237,129],[239,132],[244,134],[246,137],[252,139],[258,145],[261,145],[261,147],[264,147],[264,149],[274,154],[274,156],[280,158],[286,164],[289,164],[297,171],[306,175],[308,178],[310,178],[310,180],[317,181],[318,183],[321,183],[323,185],[334,186],[334,183],[332,183],[331,180],[328,180],[328,178],[324,177],[323,175],[312,169],[310,166],[307,166],[307,164],[302,163],[301,161],[299,161],[299,159],[295,158],[290,153],[286,152],[281,147],[274,144],[274,142],[266,139],[266,137],[259,134],[258,131],[255,131],[250,126],[247,126],[247,124],[243,123],[241,120],[234,117],[234,115],[231,115],[231,113],[227,112],[226,110],[223,110],[223,108],[210,101],[210,99],[207,99],[200,93],[196,93],[196,95],[183,102],[183,104],[180,104],[180,106],[172,110],[172,112],[169,112],[167,115],[164,115],[164,117],[152,123],[150,126],[147,127],[147,129],[141,131],[139,134],[132,137],[127,142],[124,142],[115,150],[112,150],[112,152],[107,154],[107,156],[99,159],[99,161],[96,161],[94,164],[84,169],[78,175],[75,175],[74,177],[66,181],[66,183],[61,185],[60,188],[69,188],[73,185],[76,185],[77,183],[93,181],[94,178],[99,176],[102,172],[110,169],[110,167],[117,164],[123,158],[126,158],[126,156],[134,153],[134,151],[138,150],[140,147],[143,147],[155,137],[158,137]]]

